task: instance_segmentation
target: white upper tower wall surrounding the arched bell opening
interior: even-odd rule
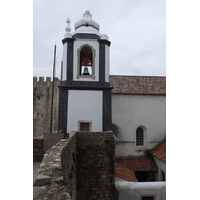
[[[77,50],[82,46],[88,44],[95,49],[95,78],[77,78],[78,56]],[[99,81],[99,43],[92,39],[76,39],[74,41],[74,60],[73,60],[73,80],[74,81]]]

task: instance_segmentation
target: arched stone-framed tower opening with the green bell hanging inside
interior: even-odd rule
[[[77,78],[95,78],[95,50],[88,44],[81,46],[77,51],[78,68]]]

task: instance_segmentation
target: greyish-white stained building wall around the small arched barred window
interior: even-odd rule
[[[166,96],[112,94],[112,123],[117,156],[139,156],[166,135]],[[136,149],[136,129],[143,126],[144,149]]]

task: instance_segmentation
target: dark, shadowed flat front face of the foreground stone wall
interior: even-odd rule
[[[117,200],[113,132],[77,132],[76,152],[76,199]]]

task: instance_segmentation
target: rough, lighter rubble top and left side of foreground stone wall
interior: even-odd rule
[[[62,139],[45,154],[34,182],[33,199],[76,199],[76,176],[70,176],[75,166],[76,135]]]

